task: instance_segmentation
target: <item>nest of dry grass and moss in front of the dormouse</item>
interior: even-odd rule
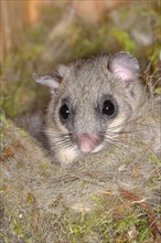
[[[150,117],[144,106],[148,118],[133,122],[119,146],[69,168],[52,165],[2,116],[3,241],[130,242],[133,231],[137,242],[154,242],[161,213],[159,108]]]

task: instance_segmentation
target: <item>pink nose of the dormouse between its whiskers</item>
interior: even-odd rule
[[[77,146],[83,152],[93,151],[98,145],[98,136],[89,134],[80,134],[77,136]]]

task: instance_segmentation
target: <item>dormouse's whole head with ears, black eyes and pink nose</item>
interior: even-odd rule
[[[34,74],[52,93],[51,140],[56,144],[63,137],[64,148],[73,146],[82,154],[97,152],[115,141],[138,107],[138,61],[125,52],[82,59],[47,75]]]

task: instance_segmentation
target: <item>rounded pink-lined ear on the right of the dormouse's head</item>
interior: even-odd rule
[[[130,81],[138,78],[140,67],[136,57],[127,52],[119,52],[109,57],[108,70],[128,86]]]

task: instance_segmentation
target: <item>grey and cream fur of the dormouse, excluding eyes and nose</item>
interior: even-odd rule
[[[144,99],[138,61],[125,52],[82,59],[67,67],[60,67],[55,76],[54,73],[51,76],[35,75],[35,81],[50,86],[52,92],[45,133],[54,158],[62,165],[84,156],[74,139],[78,134],[104,134],[101,149],[114,144],[120,131],[136,118]],[[96,113],[106,95],[117,103],[118,112],[114,118],[104,119],[101,114]],[[58,110],[66,98],[73,118],[63,124]]]

